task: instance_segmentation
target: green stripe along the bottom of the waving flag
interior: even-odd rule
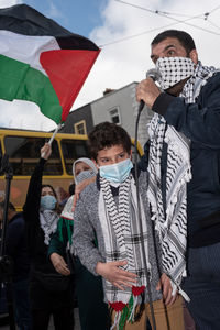
[[[56,123],[62,121],[63,109],[48,77],[3,55],[0,55],[0,98],[35,102],[44,116]]]

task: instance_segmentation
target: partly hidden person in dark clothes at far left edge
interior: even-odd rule
[[[4,201],[0,202],[0,222],[3,221]],[[2,242],[3,243],[3,242]],[[6,255],[12,263],[12,300],[14,306],[15,322],[20,330],[31,330],[30,305],[30,257],[25,240],[25,223],[22,212],[16,212],[9,202],[8,221],[6,229]],[[8,274],[10,276],[10,274]],[[9,279],[9,278],[8,278]]]

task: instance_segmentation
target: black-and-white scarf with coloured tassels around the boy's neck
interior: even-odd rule
[[[106,262],[127,260],[128,264],[123,268],[139,275],[139,283],[132,288],[124,287],[124,290],[120,290],[106,280],[106,297],[110,307],[116,311],[114,323],[111,329],[114,327],[116,329],[123,329],[127,321],[134,320],[135,307],[141,295],[144,302],[143,293],[146,287],[146,275],[141,244],[143,240],[145,257],[148,260],[146,219],[141,201],[142,235],[138,221],[136,188],[132,176],[129,176],[119,186],[118,206],[110,183],[100,177],[100,187],[99,219],[105,239]],[[148,262],[147,270],[151,271]]]

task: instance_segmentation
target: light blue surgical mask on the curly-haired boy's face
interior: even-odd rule
[[[112,165],[100,166],[100,176],[106,178],[109,182],[113,183],[123,183],[133,167],[133,164],[130,158],[127,158],[120,163]]]

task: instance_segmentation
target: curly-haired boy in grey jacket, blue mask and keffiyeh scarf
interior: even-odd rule
[[[183,299],[172,296],[169,278],[161,273],[160,244],[155,250],[158,240],[153,238],[147,172],[139,174],[141,219],[138,217],[130,136],[121,127],[103,122],[89,134],[89,146],[98,167],[97,182],[77,201],[73,244],[81,263],[103,278],[111,329],[146,329],[146,319],[152,322],[150,286],[156,329],[184,329]]]

